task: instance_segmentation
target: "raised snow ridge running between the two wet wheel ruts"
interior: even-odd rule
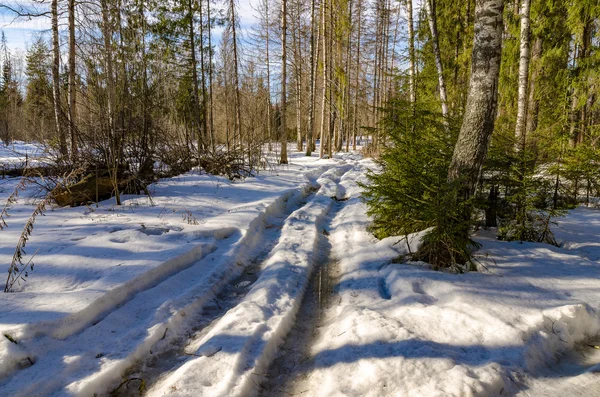
[[[312,270],[323,255],[323,225],[352,169],[330,169],[318,179],[317,194],[284,222],[277,245],[260,266],[258,279],[237,305],[188,344],[172,372],[150,396],[250,396],[293,326]],[[132,375],[133,376],[133,375]]]

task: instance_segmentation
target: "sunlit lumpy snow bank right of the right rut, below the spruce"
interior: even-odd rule
[[[489,271],[455,275],[395,263],[408,252],[407,241],[377,241],[367,232],[359,189],[350,173],[344,177],[349,200],[330,236],[339,260],[339,297],[325,314],[310,363],[285,393],[506,395],[600,333],[599,263],[486,234],[478,237],[479,259]],[[594,216],[600,219],[600,213]],[[573,240],[569,230],[561,233]],[[408,243],[416,249],[419,236]],[[578,243],[578,252],[589,250],[588,243]]]

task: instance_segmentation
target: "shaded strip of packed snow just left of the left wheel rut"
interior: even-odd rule
[[[42,336],[20,341],[34,364],[0,382],[2,395],[93,395],[118,384],[121,374],[158,342],[180,338],[186,316],[201,310],[260,255],[270,219],[287,216],[310,193],[309,185],[287,191],[237,241],[230,241],[232,234],[229,240],[214,242],[212,253],[202,260],[150,288],[129,291],[129,299],[115,304],[101,320],[83,326],[80,322],[75,334],[62,340]]]

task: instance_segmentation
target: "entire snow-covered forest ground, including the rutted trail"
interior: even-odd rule
[[[192,172],[151,201],[49,209],[34,270],[0,295],[0,395],[600,395],[600,211],[560,219],[560,248],[482,231],[481,272],[434,272],[398,263],[418,235],[368,232],[373,166],[292,153],[242,182]]]

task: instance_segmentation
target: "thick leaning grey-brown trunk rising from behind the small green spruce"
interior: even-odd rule
[[[498,104],[504,0],[478,0],[467,107],[448,171],[450,182],[460,179],[458,201],[477,190]],[[468,214],[470,215],[470,211]]]

